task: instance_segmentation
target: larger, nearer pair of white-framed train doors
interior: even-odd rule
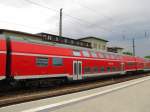
[[[82,62],[73,61],[73,80],[82,79]]]

